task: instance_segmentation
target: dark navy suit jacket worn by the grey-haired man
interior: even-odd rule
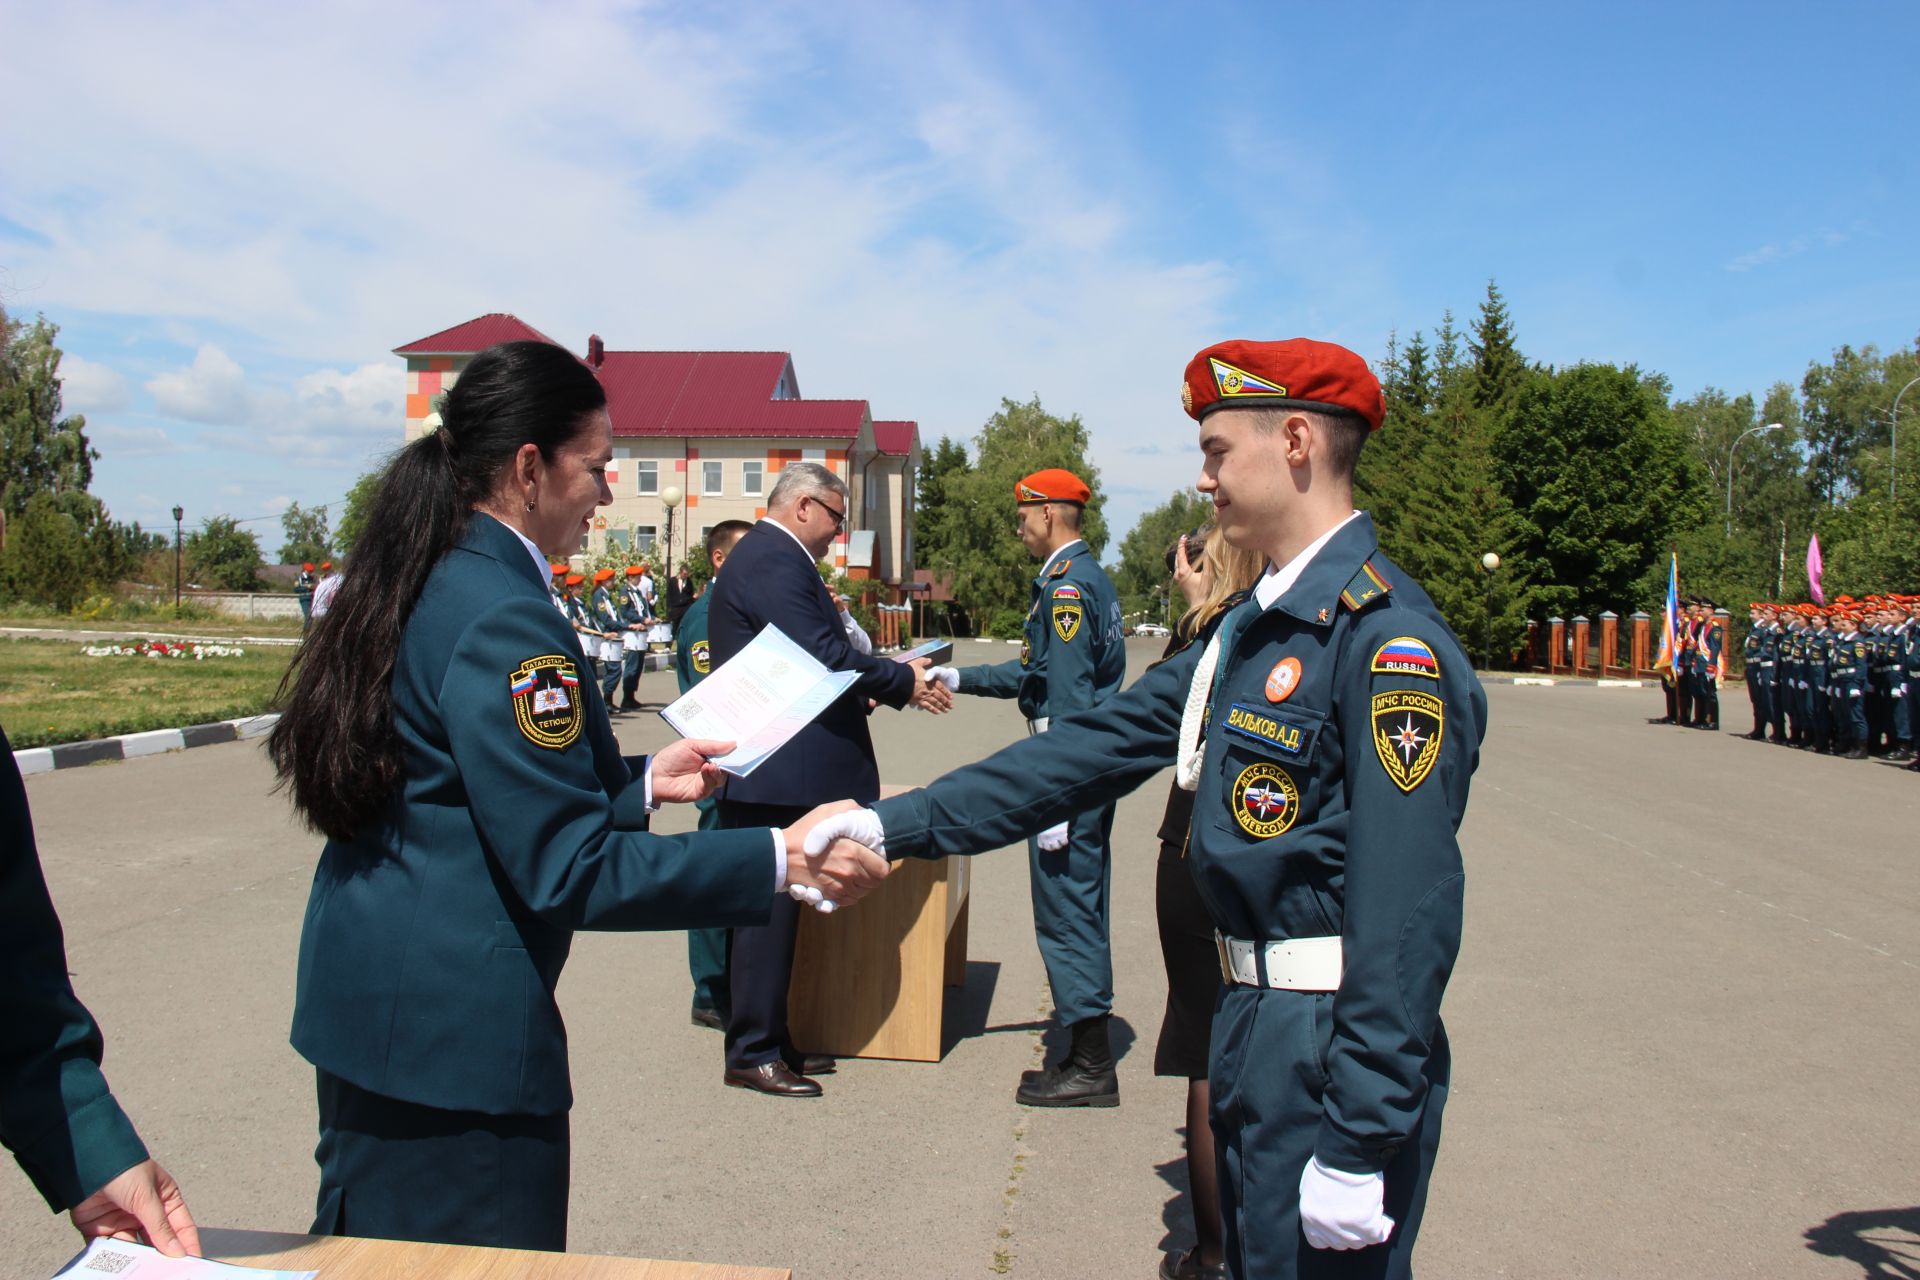
[[[722,800],[797,806],[841,796],[860,802],[879,798],[866,700],[906,706],[914,697],[912,668],[864,654],[847,641],[839,608],[820,581],[814,558],[770,520],[733,543],[726,572],[714,578],[708,593],[714,601],[707,616],[714,666],[745,649],[772,622],[829,672],[860,672],[860,679],[833,706],[774,752],[753,777],[728,779]]]

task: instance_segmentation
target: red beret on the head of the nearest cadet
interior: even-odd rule
[[[1352,413],[1380,430],[1380,380],[1346,347],[1311,338],[1217,342],[1187,363],[1181,403],[1196,422],[1215,409],[1273,405]]]

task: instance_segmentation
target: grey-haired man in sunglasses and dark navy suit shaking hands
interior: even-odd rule
[[[762,827],[776,814],[804,816],[824,798],[879,798],[874,739],[866,731],[868,700],[887,706],[914,702],[943,712],[952,706],[945,685],[925,679],[927,662],[876,658],[852,647],[839,610],[820,580],[820,558],[847,526],[847,482],[818,462],[789,462],[766,499],[766,518],[741,537],[726,574],[710,587],[708,651],[720,666],[768,624],[831,672],[860,677],[799,731],[751,777],[730,779],[720,793],[720,827]],[[785,823],[781,823],[785,825]],[[803,1059],[787,1036],[787,981],[799,904],[776,898],[766,925],[735,927],[730,956],[732,1009],[726,1029],[726,1082],[778,1098],[818,1098],[820,1084],[803,1071],[831,1069],[828,1059]]]

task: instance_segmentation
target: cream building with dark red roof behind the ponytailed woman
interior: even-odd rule
[[[407,361],[405,438],[430,430],[434,395],[478,351],[515,340],[553,342],[493,313],[394,347]],[[614,501],[582,551],[612,543],[659,560],[657,543],[670,541],[684,557],[714,524],[766,514],[774,476],[810,461],[852,491],[833,564],[891,587],[914,580],[916,422],[876,422],[864,399],[803,399],[785,351],[609,351],[593,336],[582,359],[607,388],[614,436]]]

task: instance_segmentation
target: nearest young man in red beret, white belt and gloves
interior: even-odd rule
[[[1448,1092],[1455,831],[1486,697],[1352,509],[1354,461],[1384,415],[1365,361],[1302,338],[1225,342],[1187,367],[1185,399],[1221,533],[1271,560],[1254,599],[1204,652],[808,839],[981,852],[1177,762],[1194,787],[1188,860],[1221,931],[1210,1084],[1229,1268],[1409,1276]]]

